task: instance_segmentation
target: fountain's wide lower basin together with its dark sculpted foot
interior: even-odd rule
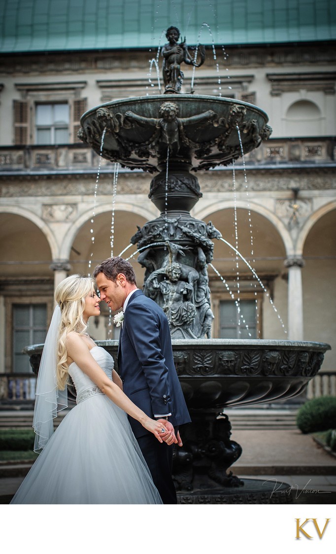
[[[96,341],[115,361],[118,341]],[[226,407],[284,401],[304,392],[321,368],[323,342],[280,340],[173,340],[175,367],[192,424],[183,425],[183,448],[174,450],[173,479],[180,504],[270,504],[276,497],[261,480],[241,480],[229,468],[242,448],[231,440]],[[43,345],[24,349],[38,372]],[[75,396],[73,386],[69,393]],[[282,484],[281,491],[290,485]],[[280,491],[280,493],[281,493]]]

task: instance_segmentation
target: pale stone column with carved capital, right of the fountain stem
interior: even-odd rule
[[[303,340],[303,297],[302,272],[304,261],[301,257],[285,260],[288,268],[288,338],[292,341]]]

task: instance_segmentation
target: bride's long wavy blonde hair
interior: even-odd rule
[[[66,360],[66,337],[71,331],[84,333],[87,325],[83,318],[85,298],[94,293],[95,282],[91,277],[70,275],[55,290],[55,300],[61,309],[61,321],[57,338],[56,378],[58,388],[64,391],[69,379],[69,366]]]

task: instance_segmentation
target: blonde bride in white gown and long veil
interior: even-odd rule
[[[159,442],[167,430],[122,392],[113,358],[86,332],[100,314],[94,281],[71,275],[55,291],[53,318],[42,353],[33,427],[41,452],[11,504],[162,504],[127,414]],[[77,405],[53,432],[53,418],[68,407],[68,375]]]

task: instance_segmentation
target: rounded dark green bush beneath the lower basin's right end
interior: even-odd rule
[[[336,396],[321,396],[305,402],[298,410],[296,424],[304,434],[335,428]]]

